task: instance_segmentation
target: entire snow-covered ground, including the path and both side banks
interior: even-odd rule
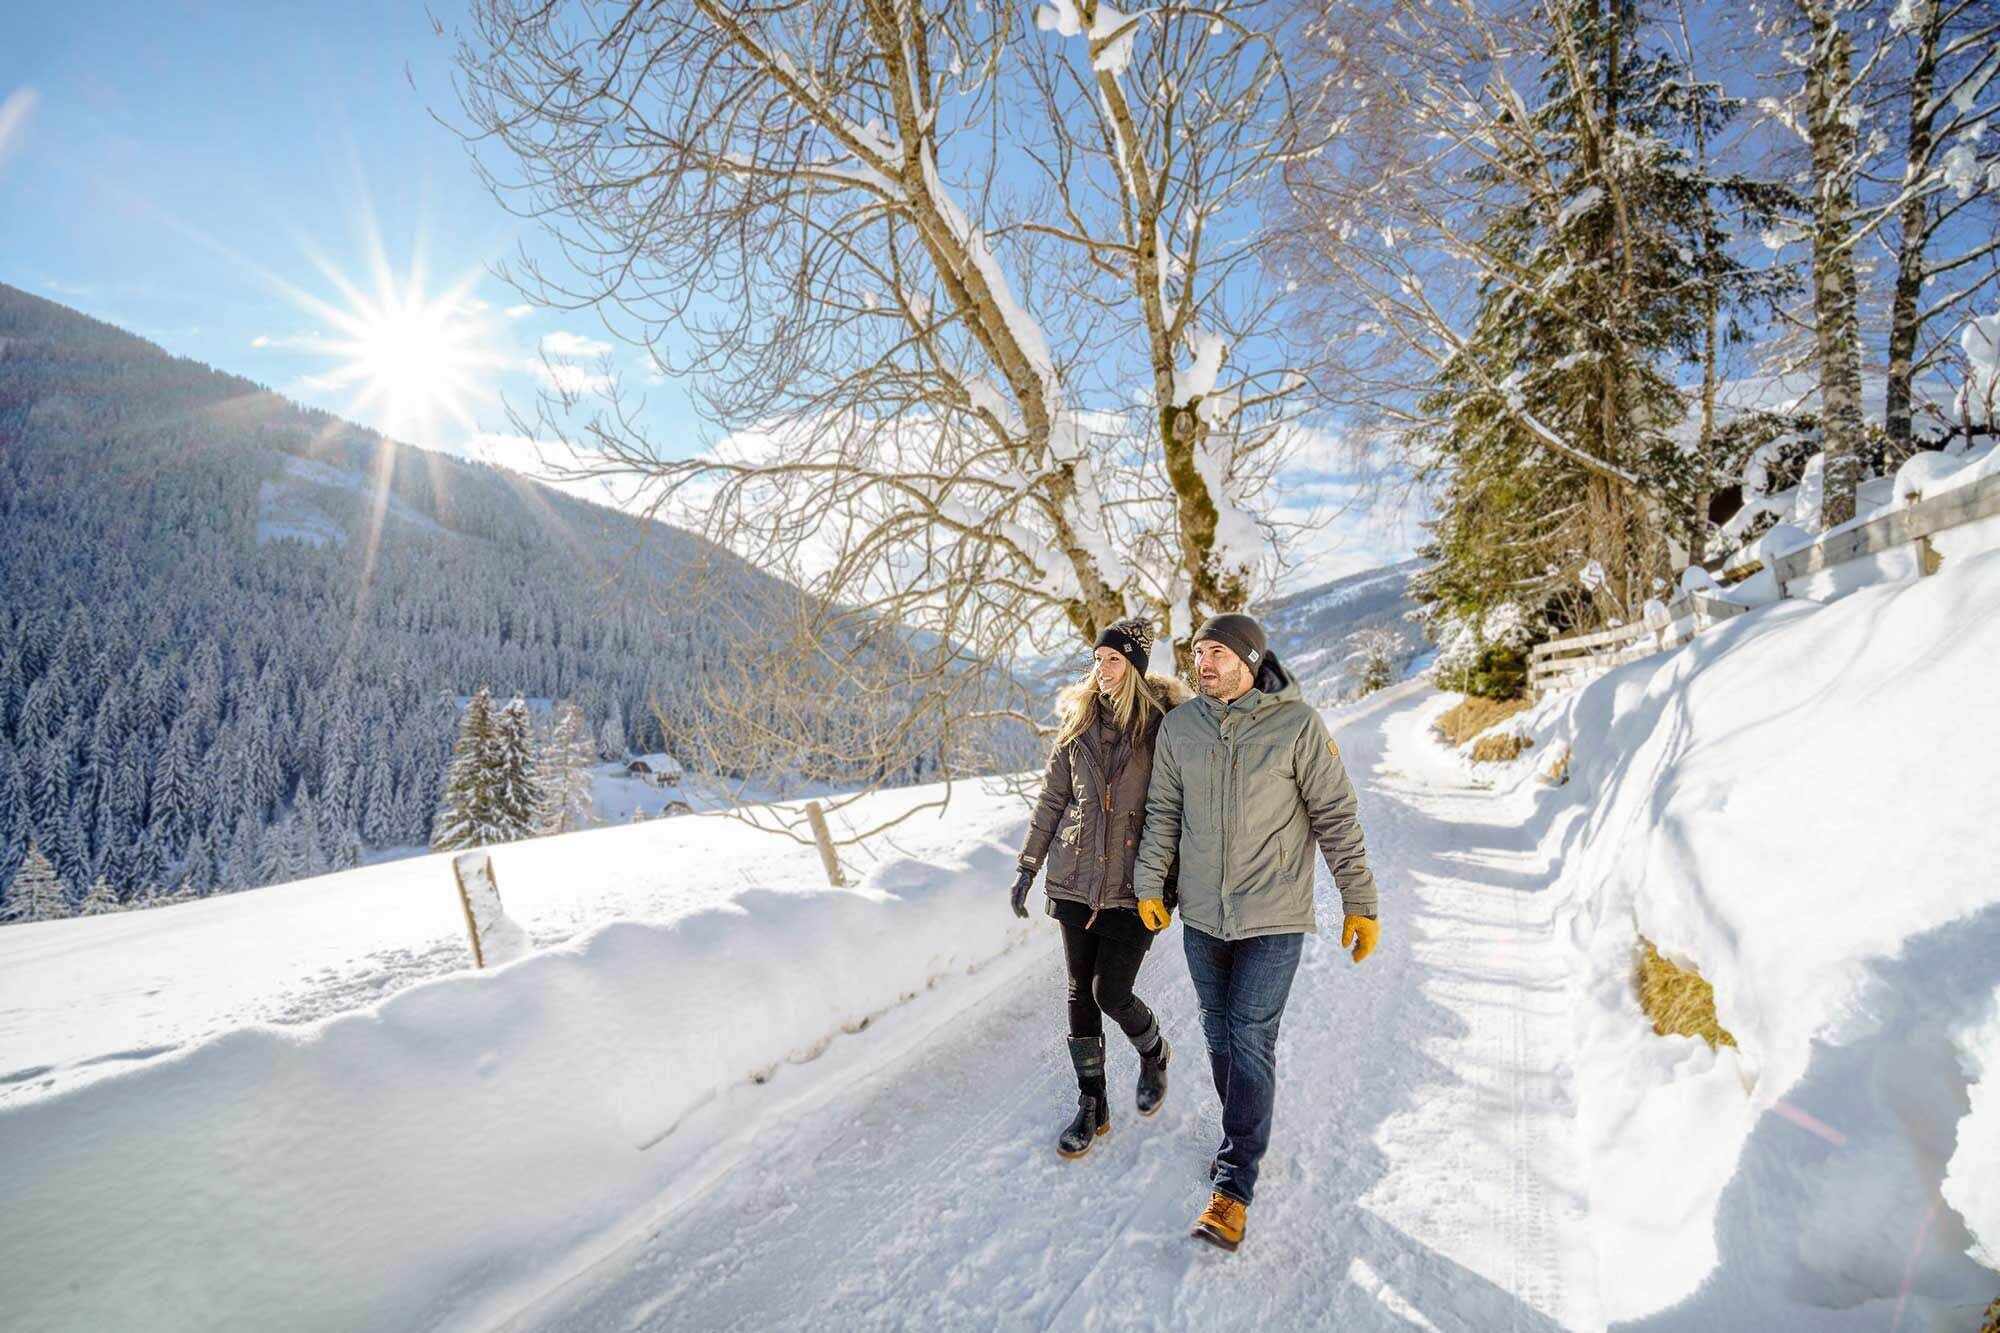
[[[1178,925],[1168,1105],[1054,1157],[1060,949],[992,785],[846,893],[722,817],[494,849],[538,951],[490,973],[442,857],[0,931],[0,1323],[1978,1329],[2000,552],[1840,592],[1546,699],[1514,765],[1422,683],[1328,715],[1384,943],[1342,957],[1322,873],[1234,1257],[1186,1241]],[[1638,935],[1736,1049],[1652,1033]]]

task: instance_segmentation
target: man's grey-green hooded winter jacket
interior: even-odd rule
[[[1266,658],[1234,703],[1192,699],[1160,723],[1132,887],[1162,897],[1180,859],[1180,917],[1218,939],[1314,931],[1312,845],[1342,909],[1376,913],[1354,785],[1318,709]]]

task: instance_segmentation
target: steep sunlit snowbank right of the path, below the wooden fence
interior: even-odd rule
[[[2000,1289],[1996,660],[1966,552],[1538,709],[1608,1319],[1956,1327]],[[1738,1049],[1652,1033],[1640,935]]]

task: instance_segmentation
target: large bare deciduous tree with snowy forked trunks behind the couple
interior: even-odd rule
[[[1304,124],[1260,12],[478,0],[468,142],[562,252],[510,276],[720,440],[652,438],[616,376],[518,426],[806,590],[758,612],[800,697],[718,689],[710,759],[950,777],[1034,721],[1016,658],[1248,600],[1302,384],[1242,222]],[[814,689],[880,729],[834,741]]]

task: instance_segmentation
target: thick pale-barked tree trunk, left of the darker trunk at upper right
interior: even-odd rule
[[[1854,282],[1854,126],[1842,112],[1854,44],[1826,0],[1806,6],[1812,50],[1806,120],[1812,138],[1812,314],[1820,358],[1820,422],[1826,450],[1826,528],[1854,516],[1862,478],[1862,368]]]

